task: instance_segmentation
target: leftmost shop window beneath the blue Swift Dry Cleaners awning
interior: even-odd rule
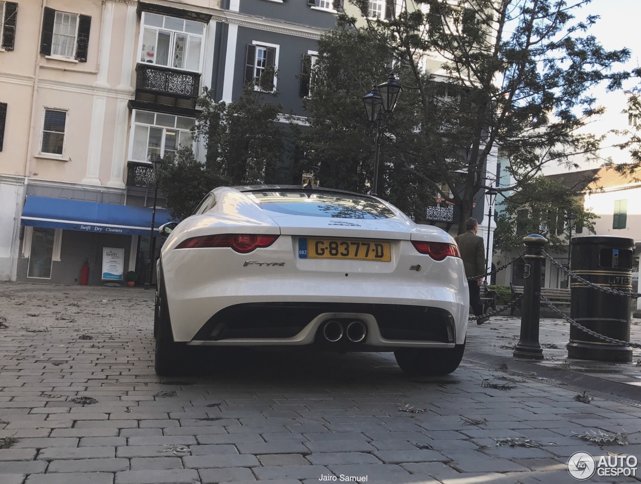
[[[28,278],[51,279],[51,263],[60,261],[62,229],[26,227],[22,255],[29,258]]]

